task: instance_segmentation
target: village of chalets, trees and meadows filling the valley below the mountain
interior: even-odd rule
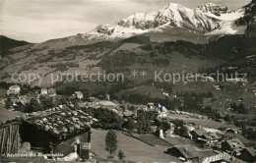
[[[0,159],[51,161],[255,162],[256,141],[226,115],[212,118],[138,105],[109,94],[63,97],[39,87],[21,95],[11,85],[0,97]],[[1,90],[2,91],[2,90]],[[239,120],[241,121],[241,120]],[[255,130],[255,129],[254,129]],[[105,136],[117,136],[113,151]],[[254,135],[255,136],[255,135]],[[109,156],[110,154],[110,156]],[[36,156],[35,158],[32,156]]]

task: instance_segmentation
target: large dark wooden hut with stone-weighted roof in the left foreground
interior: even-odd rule
[[[83,111],[50,109],[26,118],[21,127],[21,137],[42,153],[66,156],[74,151],[73,142],[78,139],[81,144],[91,141],[92,121],[93,118]]]

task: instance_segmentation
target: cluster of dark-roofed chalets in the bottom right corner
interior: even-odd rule
[[[224,137],[222,132],[207,132],[204,128],[197,126],[191,127],[191,125],[184,125],[187,127],[187,137],[190,137],[197,146],[203,148],[197,150],[195,146],[191,144],[177,145],[168,148],[167,153],[172,156],[180,158],[182,161],[198,162],[202,161],[209,155],[209,162],[215,162],[216,157],[211,157],[213,153],[207,152],[209,147],[218,150],[220,153],[225,153],[228,158],[232,158],[236,162],[254,162],[256,161],[256,150],[254,146],[245,147],[239,138]],[[228,132],[230,129],[227,129]],[[205,150],[204,150],[205,149]],[[211,157],[211,158],[210,158]],[[220,157],[220,162],[230,161],[226,160],[227,157]],[[210,161],[210,160],[215,161]]]

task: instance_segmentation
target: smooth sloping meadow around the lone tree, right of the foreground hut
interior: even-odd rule
[[[107,157],[109,154],[104,150],[104,137],[107,131],[92,129],[92,151],[102,157]],[[130,136],[124,136],[121,132],[116,132],[118,139],[118,147],[114,154],[117,157],[119,150],[122,150],[129,161],[144,161],[144,162],[178,162],[175,157],[164,154],[166,147],[153,147],[138,139]]]

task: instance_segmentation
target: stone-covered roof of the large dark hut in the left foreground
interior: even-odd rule
[[[25,122],[59,139],[89,131],[89,124],[93,121],[93,117],[87,113],[68,108],[54,108],[33,114]]]

